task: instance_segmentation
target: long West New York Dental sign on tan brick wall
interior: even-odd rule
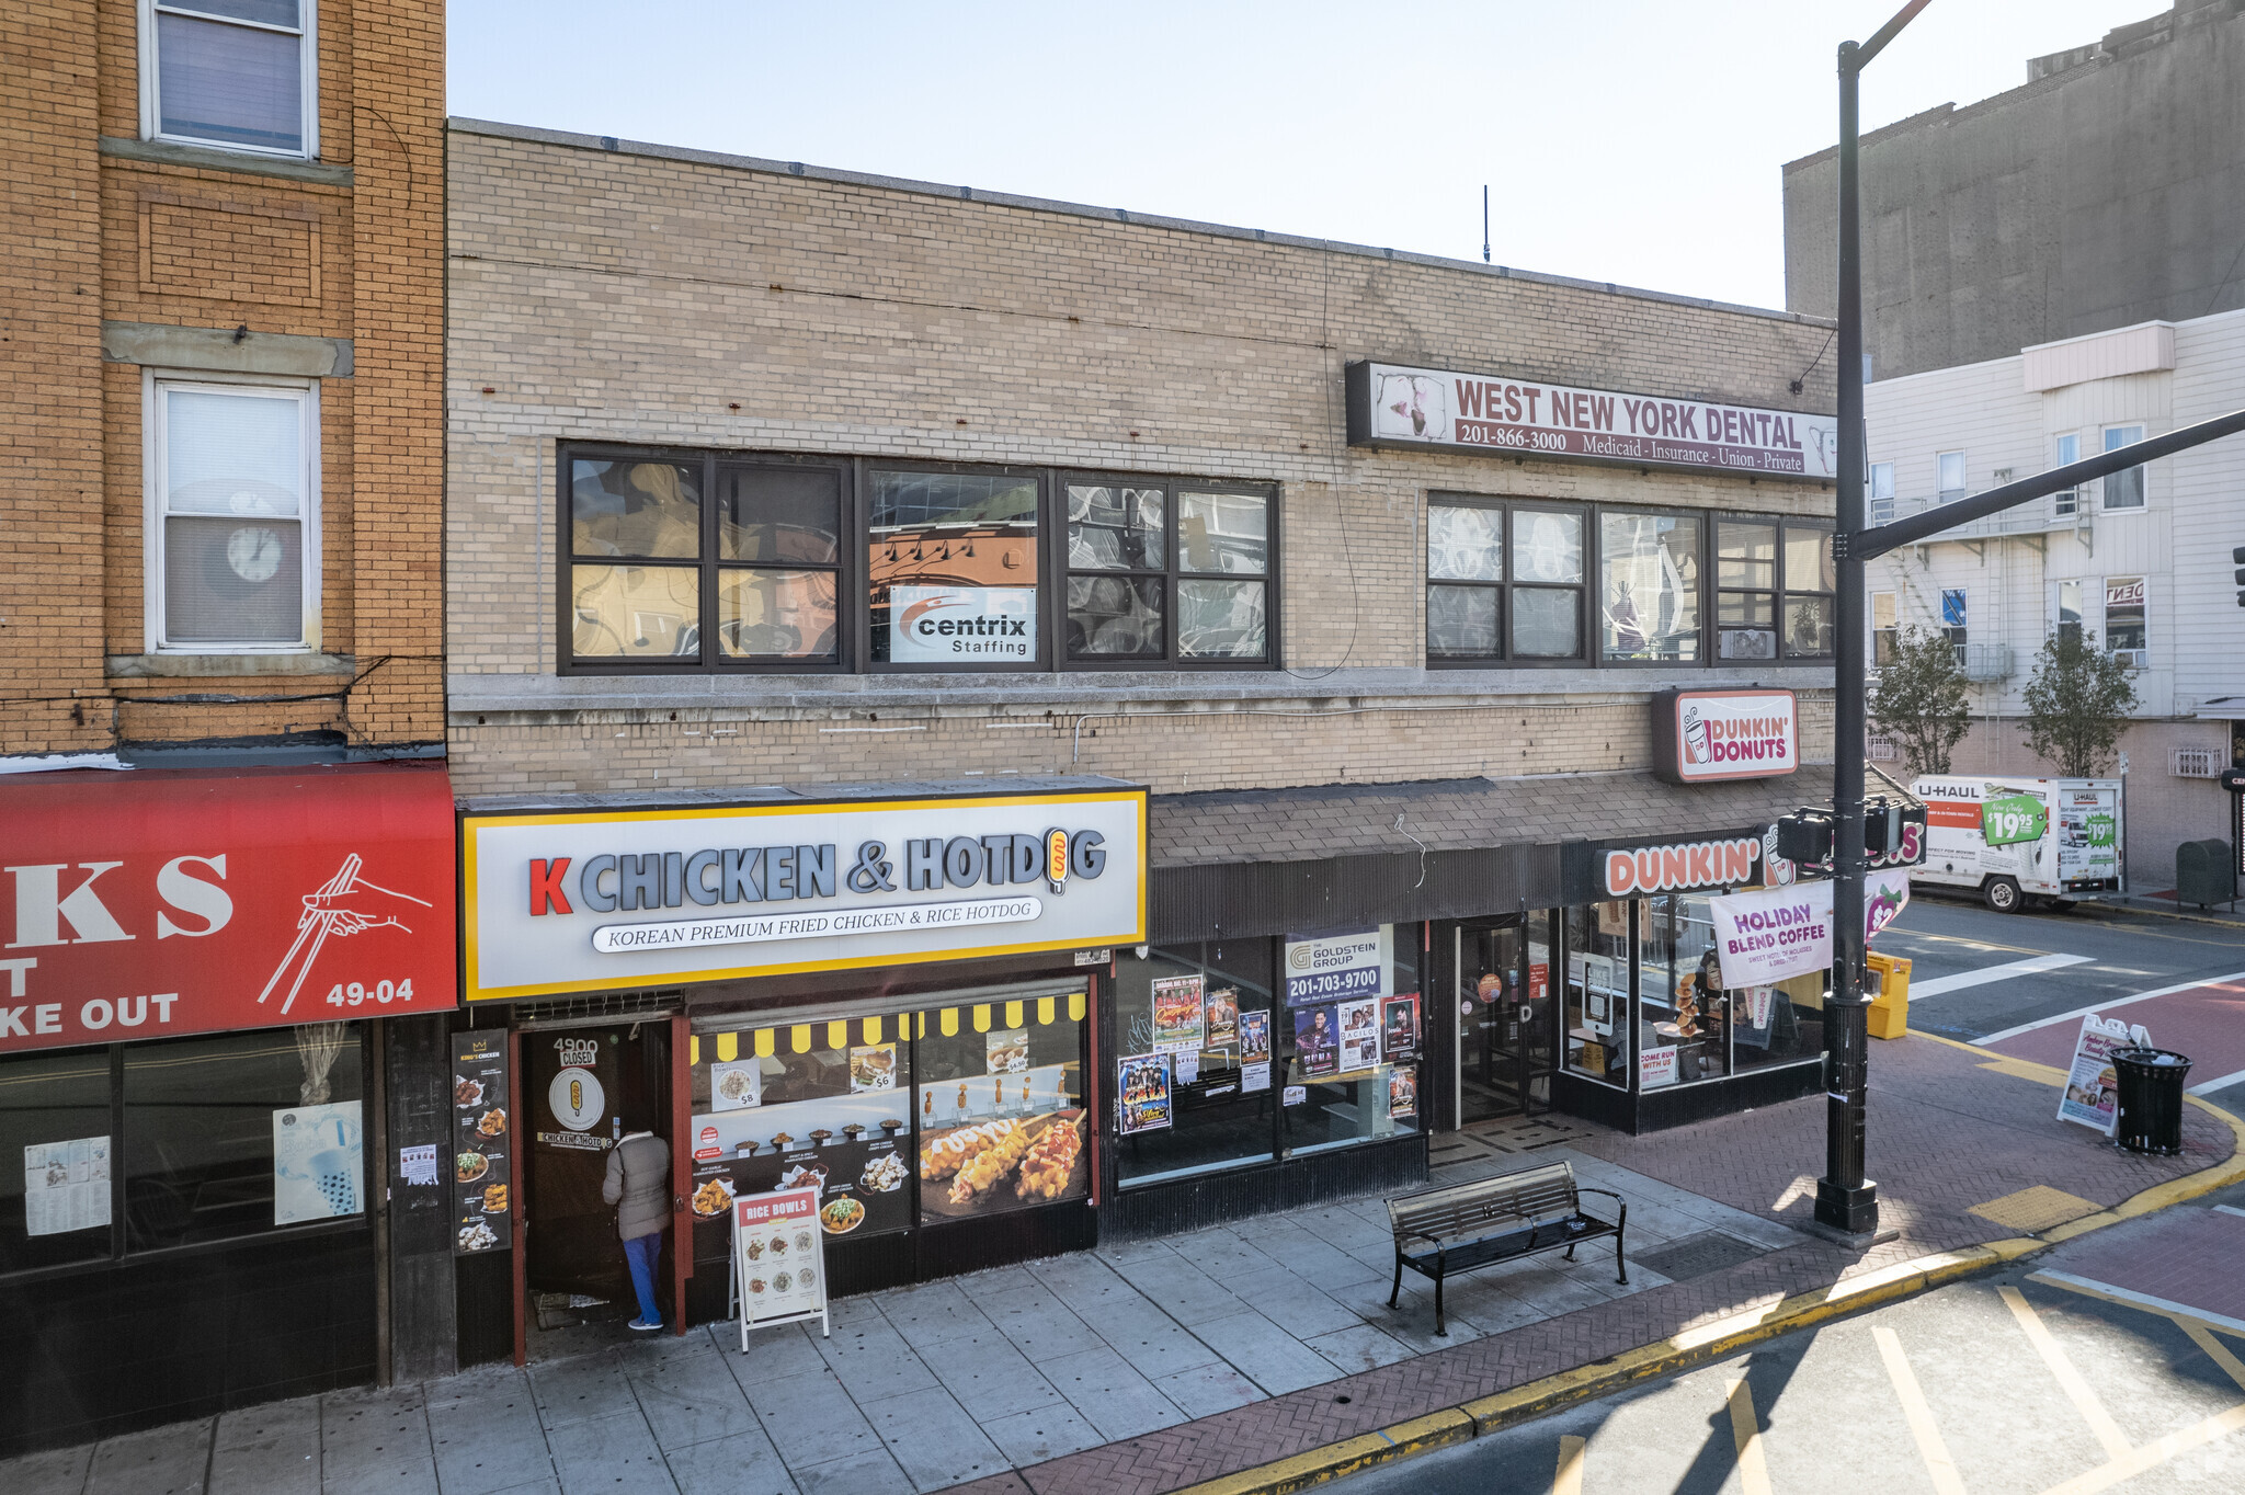
[[[1372,361],[1349,364],[1347,404],[1351,447],[1441,447],[1765,478],[1839,476],[1832,415]]]

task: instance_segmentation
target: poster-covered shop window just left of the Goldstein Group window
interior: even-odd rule
[[[1116,963],[1116,1044],[1122,1057],[1167,1055],[1170,1125],[1120,1136],[1125,1187],[1271,1161],[1271,941],[1217,941],[1125,954]],[[1199,1033],[1190,1008],[1199,1001]],[[1156,1026],[1161,1046],[1156,1048]],[[1122,1064],[1140,1095],[1156,1064]],[[1147,1107],[1127,1111],[1149,1120]]]

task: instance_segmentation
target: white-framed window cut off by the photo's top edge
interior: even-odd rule
[[[319,153],[314,0],[141,0],[141,132]]]

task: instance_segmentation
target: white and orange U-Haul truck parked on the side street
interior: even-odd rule
[[[1998,914],[2122,896],[2119,779],[1922,774],[1926,860],[1913,884],[1969,887]]]

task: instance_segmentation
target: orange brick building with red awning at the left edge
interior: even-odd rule
[[[0,1450],[379,1369],[379,1024],[337,1008],[456,999],[442,18],[34,0],[0,38],[0,1084],[49,1161],[0,1185]],[[379,932],[373,878],[413,909]]]

